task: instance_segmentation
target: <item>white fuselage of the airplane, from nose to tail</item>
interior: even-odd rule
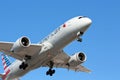
[[[87,17],[80,18],[79,16],[68,20],[40,43],[42,49],[28,61],[29,66],[26,70],[19,69],[22,61],[16,60],[9,67],[11,72],[6,80],[19,78],[33,69],[42,67],[42,65],[58,55],[57,51],[62,50],[67,44],[77,39],[79,37],[78,32],[85,32],[90,24],[91,20]]]

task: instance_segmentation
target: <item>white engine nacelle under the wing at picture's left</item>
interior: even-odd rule
[[[21,37],[19,38],[12,46],[11,51],[12,52],[18,52],[22,49],[30,46],[30,40],[27,37]]]

